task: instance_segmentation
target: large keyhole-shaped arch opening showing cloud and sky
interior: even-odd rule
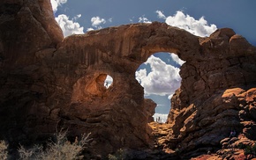
[[[166,122],[170,110],[170,98],[180,87],[179,68],[184,63],[175,54],[158,52],[142,63],[135,76],[144,87],[144,97],[157,104],[154,121]]]

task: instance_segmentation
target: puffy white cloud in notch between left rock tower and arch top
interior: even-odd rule
[[[81,16],[78,15],[77,18]],[[80,26],[79,23],[74,22],[73,18],[70,20],[66,15],[61,14],[55,18],[58,25],[60,25],[63,30],[64,37],[72,35],[72,34],[81,34],[84,33],[84,27]]]

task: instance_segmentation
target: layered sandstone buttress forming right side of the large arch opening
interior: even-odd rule
[[[182,84],[168,118],[170,148],[187,156],[224,148],[220,142],[231,130],[256,137],[255,47],[228,28],[199,42],[201,56],[181,67]]]

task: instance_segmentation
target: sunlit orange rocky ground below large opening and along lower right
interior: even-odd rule
[[[162,150],[170,158],[192,159],[192,160],[245,160],[256,159],[256,141],[249,140],[244,135],[227,137],[220,142],[221,148],[214,153],[208,151],[206,154],[195,157],[185,157],[179,154],[178,149],[169,149],[169,133],[172,132],[171,125],[166,123],[151,122],[149,126],[153,129],[154,149]],[[158,156],[164,159],[164,156]]]

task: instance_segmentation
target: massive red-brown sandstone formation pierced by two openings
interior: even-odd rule
[[[185,61],[171,101],[170,149],[218,146],[230,127],[255,137],[255,98],[248,97],[255,92],[246,90],[256,84],[256,49],[229,28],[200,38],[154,22],[63,39],[49,1],[1,1],[0,13],[2,139],[39,141],[59,125],[72,136],[91,132],[94,153],[151,148],[155,104],[144,99],[135,71],[156,52]]]

